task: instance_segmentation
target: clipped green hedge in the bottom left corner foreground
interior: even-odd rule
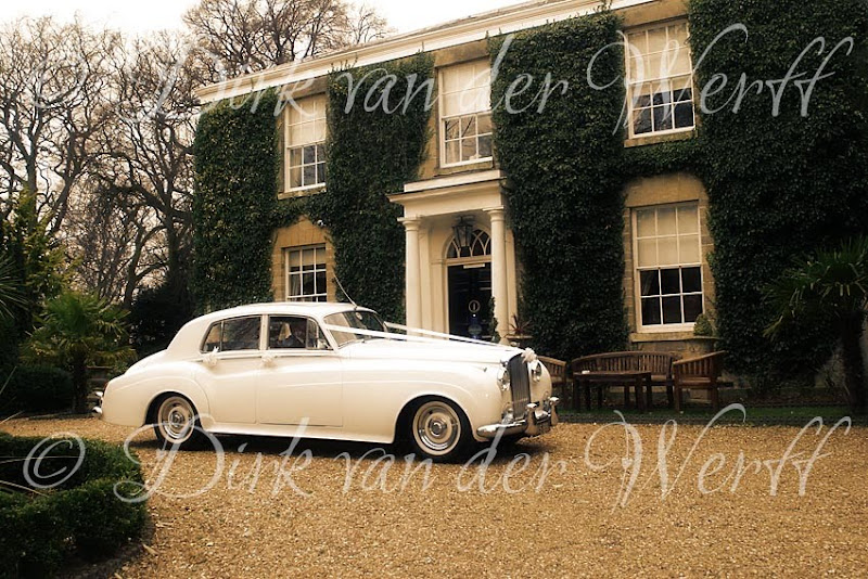
[[[40,442],[0,434],[0,481],[27,486],[25,463],[16,459],[26,458]],[[39,472],[68,468],[78,455],[73,441],[56,446]],[[144,503],[118,499],[115,488],[123,481],[141,485],[139,466],[118,447],[86,440],[81,466],[58,488],[41,494],[0,490],[0,577],[51,576],[72,556],[93,561],[139,537]],[[118,487],[122,493],[125,489]]]

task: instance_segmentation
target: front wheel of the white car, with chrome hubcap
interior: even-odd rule
[[[454,460],[464,452],[470,438],[470,422],[448,400],[423,400],[412,413],[408,439],[424,459]]]

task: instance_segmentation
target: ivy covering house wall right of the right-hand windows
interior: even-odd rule
[[[694,61],[735,23],[748,28],[749,38],[737,33],[717,42],[697,78],[700,89],[716,74],[729,78],[706,103],[723,110],[701,117],[697,167],[710,197],[720,346],[741,373],[807,373],[828,359],[833,336],[825,327],[804,327],[773,345],[763,337],[774,313],[762,295],[793,257],[868,229],[868,4],[692,0]],[[724,106],[742,74],[748,82],[782,79],[800,53],[825,37],[822,53],[814,47],[796,70],[809,78],[848,36],[855,38],[853,54],[832,57],[825,72],[834,76],[816,85],[808,116],[801,114],[802,93],[792,80],[777,117],[768,86],[749,93],[738,112],[735,102]]]

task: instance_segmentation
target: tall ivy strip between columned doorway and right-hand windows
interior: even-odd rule
[[[510,177],[506,196],[534,347],[565,359],[622,349],[627,337],[624,136],[614,130],[624,89],[593,90],[586,78],[590,60],[617,42],[620,28],[618,18],[603,13],[520,33],[492,87],[495,146]],[[493,63],[503,41],[490,42]],[[599,78],[618,78],[623,59],[622,50],[605,51],[593,69]],[[554,91],[540,113],[527,106],[548,73],[570,86],[566,94]],[[511,114],[505,97],[526,74],[537,85],[511,99],[513,111],[527,107]]]

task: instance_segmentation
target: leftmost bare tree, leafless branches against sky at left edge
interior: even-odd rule
[[[106,63],[119,48],[114,33],[50,17],[23,18],[0,30],[4,216],[18,192],[30,191],[48,233],[60,231],[107,117]]]

